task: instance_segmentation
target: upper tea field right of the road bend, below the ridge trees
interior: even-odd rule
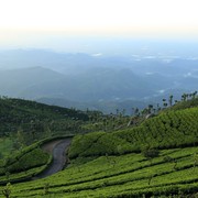
[[[198,108],[167,111],[136,128],[77,135],[69,157],[114,155],[155,148],[185,147],[198,143]]]

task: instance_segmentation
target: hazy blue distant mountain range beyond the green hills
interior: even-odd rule
[[[105,112],[124,108],[129,113],[134,106],[198,89],[198,59],[135,58],[0,52],[0,95]]]

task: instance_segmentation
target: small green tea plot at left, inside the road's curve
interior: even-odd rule
[[[46,168],[52,157],[40,148],[40,143],[0,161],[0,184],[28,179]]]

